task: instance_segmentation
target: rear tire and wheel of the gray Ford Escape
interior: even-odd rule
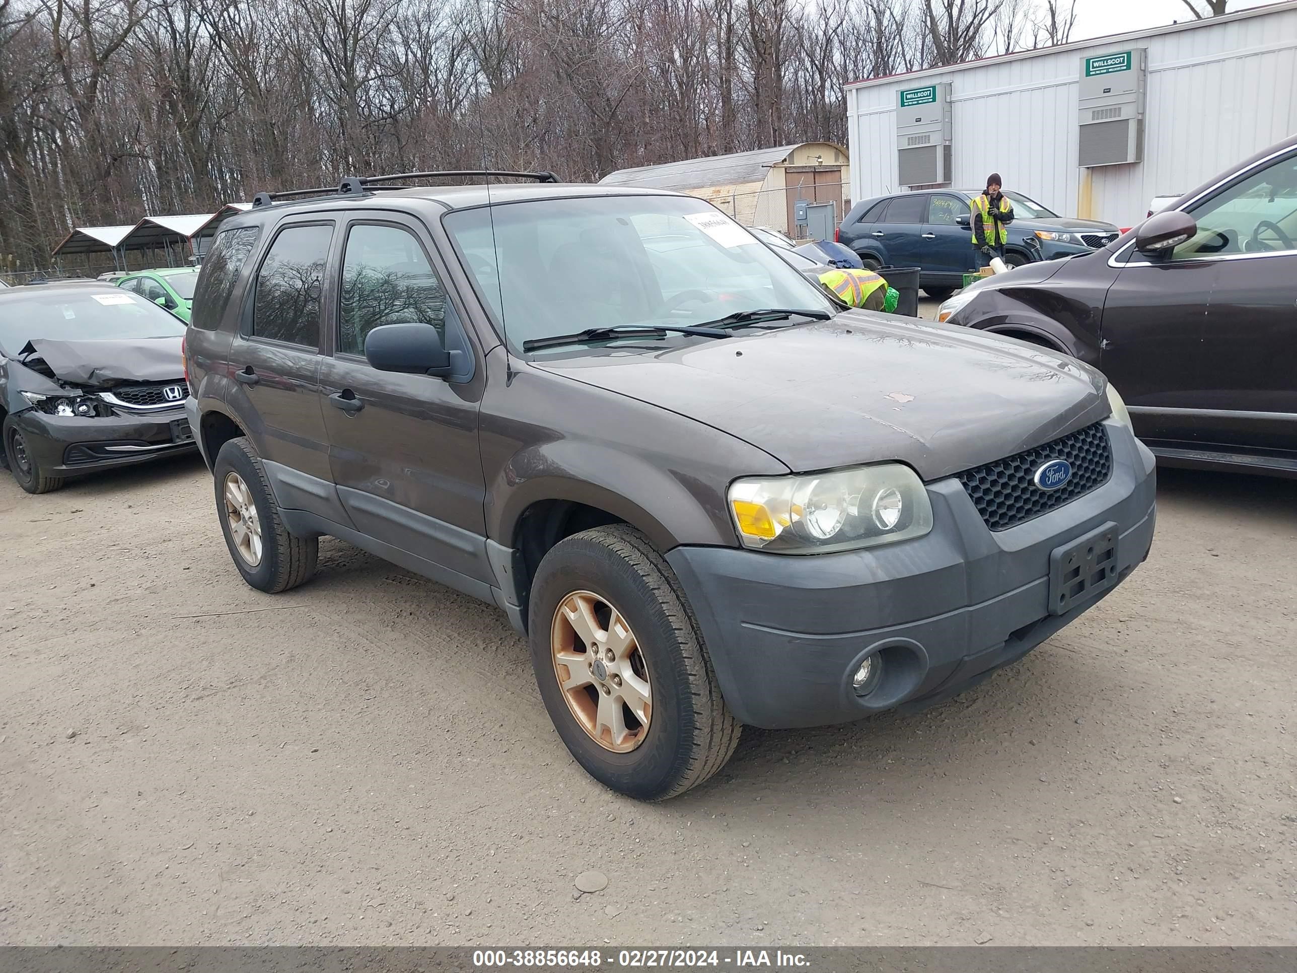
[[[266,468],[245,436],[220,446],[213,476],[220,532],[244,581],[270,594],[309,581],[319,538],[298,537],[284,527]]]

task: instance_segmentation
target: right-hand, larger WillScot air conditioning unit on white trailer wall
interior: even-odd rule
[[[1080,58],[1079,165],[1144,161],[1148,51],[1113,51]]]

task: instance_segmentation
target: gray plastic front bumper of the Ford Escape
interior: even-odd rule
[[[770,729],[917,711],[1064,628],[1112,588],[1052,615],[1052,551],[1114,523],[1124,580],[1153,541],[1153,455],[1124,427],[1109,422],[1108,431],[1108,483],[997,533],[947,479],[929,485],[933,532],[913,541],[809,557],[671,551],[730,711]],[[870,654],[882,660],[882,681],[861,698],[851,677]]]

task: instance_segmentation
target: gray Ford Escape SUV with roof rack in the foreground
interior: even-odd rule
[[[498,605],[573,756],[664,798],[744,723],[974,685],[1148,555],[1153,458],[1093,368],[843,309],[689,196],[533,179],[222,226],[187,409],[248,584],[329,535]]]

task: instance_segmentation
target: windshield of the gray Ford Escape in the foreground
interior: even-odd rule
[[[515,349],[585,328],[699,324],[760,307],[837,310],[747,230],[687,197],[537,200],[442,222]]]

